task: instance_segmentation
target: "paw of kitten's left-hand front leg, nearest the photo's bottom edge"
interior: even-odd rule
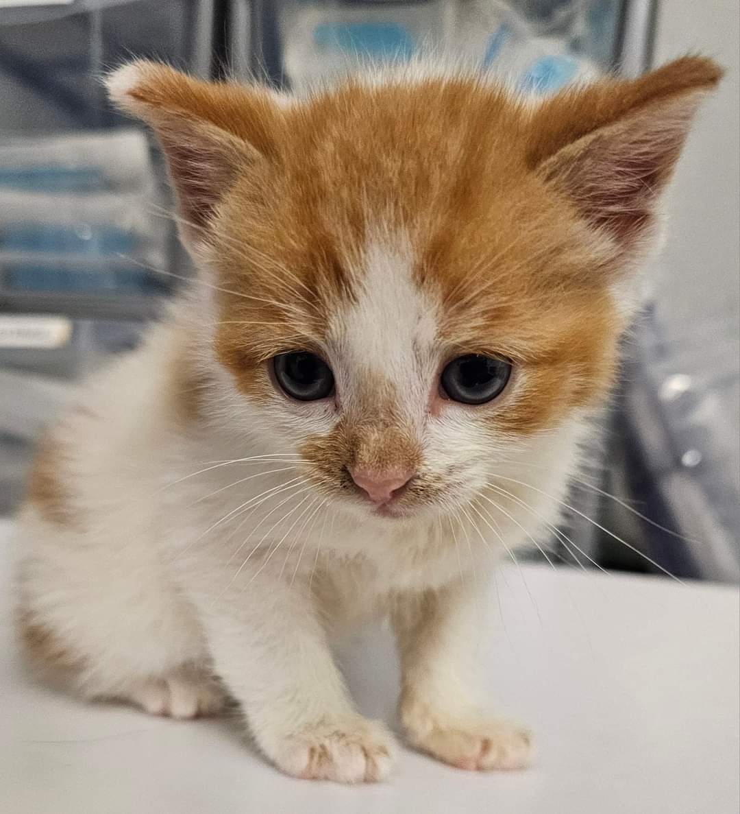
[[[382,724],[348,716],[322,720],[286,738],[273,759],[294,777],[368,783],[388,776],[394,752],[393,736]]]

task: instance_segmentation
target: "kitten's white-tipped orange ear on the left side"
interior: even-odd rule
[[[137,60],[106,79],[111,100],[154,129],[191,247],[207,243],[216,205],[240,174],[275,152],[280,111],[267,89],[205,82]]]

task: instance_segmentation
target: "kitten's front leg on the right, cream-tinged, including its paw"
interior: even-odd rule
[[[394,612],[402,669],[399,711],[409,742],[465,769],[529,763],[531,737],[481,712],[473,663],[481,605],[471,586],[409,597]]]

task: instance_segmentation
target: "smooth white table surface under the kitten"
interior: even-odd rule
[[[381,785],[293,780],[234,722],[179,722],[54,694],[12,644],[0,526],[3,814],[737,814],[738,592],[525,567],[499,577],[492,693],[533,727],[525,772],[475,774],[403,750]],[[537,609],[534,608],[536,603]],[[389,635],[342,653],[361,709],[393,723]]]

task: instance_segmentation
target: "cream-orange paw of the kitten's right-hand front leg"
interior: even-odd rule
[[[420,702],[403,703],[401,720],[412,746],[457,768],[526,768],[532,759],[532,736],[516,724],[460,720]]]

